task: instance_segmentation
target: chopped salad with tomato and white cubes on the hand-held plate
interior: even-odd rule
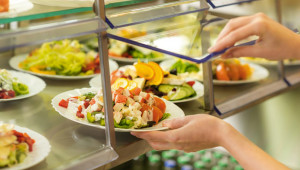
[[[132,91],[120,87],[112,90],[112,96],[113,118],[116,128],[149,127],[148,122],[158,123],[166,110],[166,104],[163,100],[154,97],[153,94],[141,92],[138,87]],[[65,108],[67,106],[66,109],[74,110],[73,114],[78,119],[104,126],[105,115],[103,112],[105,109],[102,99],[103,95],[99,92],[92,99],[87,99],[83,95],[62,99],[59,106]],[[86,103],[88,103],[87,107]]]

